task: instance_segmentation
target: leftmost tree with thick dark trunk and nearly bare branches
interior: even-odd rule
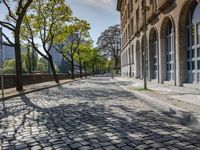
[[[0,25],[10,30],[14,36],[14,40],[11,40],[11,38],[3,33],[3,37],[6,41],[4,44],[15,48],[16,90],[18,91],[23,90],[20,29],[24,15],[32,1],[33,0],[18,0],[16,3],[9,0],[2,1],[2,4],[7,8],[8,15],[6,16],[5,21],[0,21]],[[16,9],[11,8],[11,5],[14,3]]]

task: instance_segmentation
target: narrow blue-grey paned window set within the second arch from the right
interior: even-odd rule
[[[174,32],[172,22],[168,20],[166,28],[166,80],[174,80]]]

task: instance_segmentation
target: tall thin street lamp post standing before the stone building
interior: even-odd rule
[[[144,52],[143,52],[143,63],[144,63],[144,71],[143,71],[143,77],[144,77],[144,89],[147,89],[147,25],[146,25],[146,15],[147,11],[149,10],[149,7],[146,6],[146,0],[142,0],[142,13],[144,15]]]

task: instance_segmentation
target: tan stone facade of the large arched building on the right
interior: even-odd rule
[[[121,15],[121,38],[122,38],[122,75],[129,76],[128,66],[130,63],[134,63],[134,78],[143,78],[143,51],[144,51],[144,32],[142,23],[144,16],[141,11],[141,1],[121,1],[118,0],[118,10]],[[166,31],[169,24],[172,25],[172,41],[171,48],[173,54],[171,59],[173,60],[171,71],[173,71],[171,82],[174,85],[182,86],[184,83],[200,82],[200,73],[196,73],[197,78],[194,81],[188,80],[188,78],[194,78],[194,75],[188,75],[187,70],[187,32],[186,25],[188,19],[188,12],[194,4],[197,4],[196,0],[156,0],[156,3],[150,3],[146,1],[149,9],[147,10],[147,79],[149,81],[156,80],[158,83],[167,83],[168,72],[166,65]],[[152,1],[153,2],[153,1]],[[133,5],[132,11],[130,11],[129,5]],[[120,6],[121,5],[121,6]],[[154,10],[154,11],[153,11]],[[139,16],[139,19],[137,18]],[[133,24],[133,25],[132,25]],[[141,27],[140,27],[141,26]],[[129,28],[132,29],[129,29]],[[134,31],[134,32],[132,32]],[[153,32],[152,32],[153,31]],[[129,34],[131,33],[131,36]],[[156,33],[157,39],[157,75],[156,78],[152,76],[154,66],[153,60],[153,47],[152,37]],[[196,44],[196,48],[197,48]],[[199,47],[198,47],[199,48]],[[129,51],[134,53],[129,53]],[[129,56],[132,55],[132,56]],[[134,58],[129,59],[129,58]],[[132,60],[132,61],[130,61]],[[197,59],[195,60],[197,61]],[[197,62],[196,62],[197,64]],[[199,69],[196,69],[199,70]],[[155,72],[154,72],[155,73]],[[198,75],[199,74],[199,77]],[[133,76],[132,76],[133,77]]]

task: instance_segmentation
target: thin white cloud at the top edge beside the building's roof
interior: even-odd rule
[[[76,0],[76,1],[100,9],[115,10],[116,8],[116,0]]]

